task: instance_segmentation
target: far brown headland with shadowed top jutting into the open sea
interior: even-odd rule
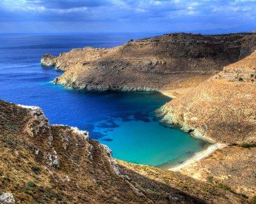
[[[150,91],[170,89],[189,77],[204,79],[253,52],[256,34],[165,34],[115,48],[74,49],[42,64],[65,70],[57,84],[74,89]]]

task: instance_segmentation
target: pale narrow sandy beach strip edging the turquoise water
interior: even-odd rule
[[[196,161],[200,161],[204,159],[207,156],[210,156],[213,152],[215,152],[218,149],[223,149],[224,147],[227,147],[227,144],[225,143],[214,143],[212,145],[209,145],[206,149],[198,152],[195,154],[195,156],[190,157],[189,159],[186,159],[184,162],[176,165],[170,165],[169,168],[166,167],[166,169],[171,171],[180,171],[183,168],[188,167],[189,165],[196,163]]]

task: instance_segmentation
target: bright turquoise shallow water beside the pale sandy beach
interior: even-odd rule
[[[154,120],[115,122],[119,127],[109,131],[99,141],[113,150],[114,157],[132,163],[153,166],[179,163],[195,154],[195,151],[205,144],[194,140],[179,129],[164,127]]]

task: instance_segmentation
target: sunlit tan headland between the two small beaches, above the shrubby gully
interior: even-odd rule
[[[161,108],[164,120],[223,143],[256,140],[256,52]]]

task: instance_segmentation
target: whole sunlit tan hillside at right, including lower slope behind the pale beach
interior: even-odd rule
[[[159,110],[163,120],[181,126],[192,136],[228,145],[185,166],[182,173],[255,196],[255,76],[256,51]]]

